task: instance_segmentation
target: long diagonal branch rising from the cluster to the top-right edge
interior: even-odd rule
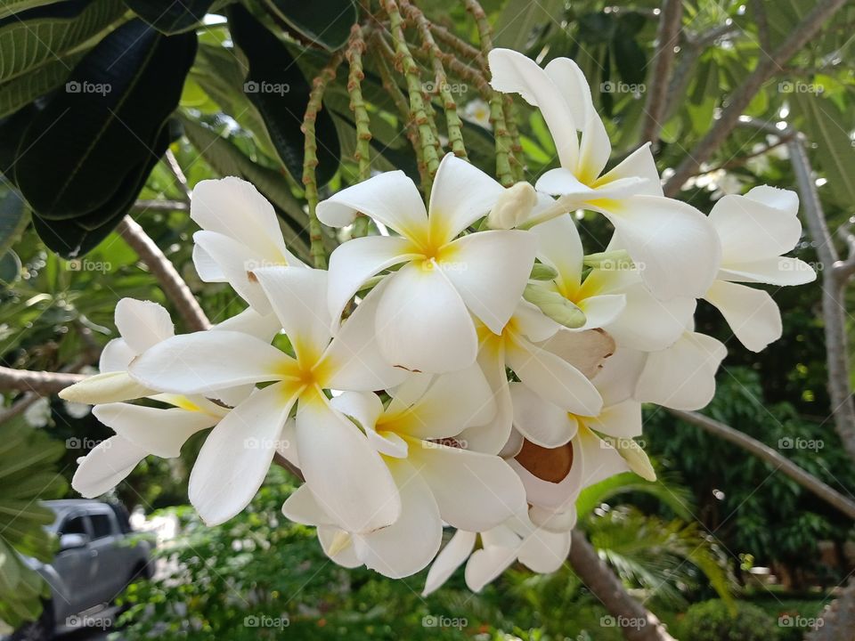
[[[761,56],[751,75],[739,85],[729,97],[728,106],[721,110],[721,117],[715,121],[710,131],[696,144],[695,148],[674,170],[674,174],[664,184],[666,196],[674,196],[683,183],[695,175],[700,166],[709,159],[737,126],[742,112],[760,90],[763,83],[780,72],[786,61],[794,56],[812,37],[826,20],[840,9],[846,0],[819,0],[801,23],[796,25],[789,37],[768,56]]]

